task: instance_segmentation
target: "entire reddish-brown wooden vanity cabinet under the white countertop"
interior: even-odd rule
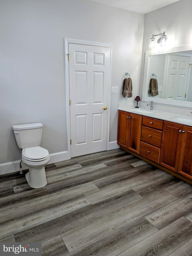
[[[119,110],[117,143],[192,184],[192,127]]]

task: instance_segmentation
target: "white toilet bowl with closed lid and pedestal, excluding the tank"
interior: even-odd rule
[[[50,160],[49,151],[40,146],[22,149],[22,161],[29,167],[26,180],[34,189],[46,186],[45,165]]]

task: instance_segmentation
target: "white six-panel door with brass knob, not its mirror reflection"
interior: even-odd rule
[[[71,157],[107,150],[108,47],[68,44]]]

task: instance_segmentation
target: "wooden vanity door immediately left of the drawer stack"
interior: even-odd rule
[[[142,116],[138,114],[129,114],[129,131],[128,131],[128,149],[139,154]]]

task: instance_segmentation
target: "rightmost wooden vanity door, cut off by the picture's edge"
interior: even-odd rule
[[[178,173],[192,180],[192,127],[183,126]]]

